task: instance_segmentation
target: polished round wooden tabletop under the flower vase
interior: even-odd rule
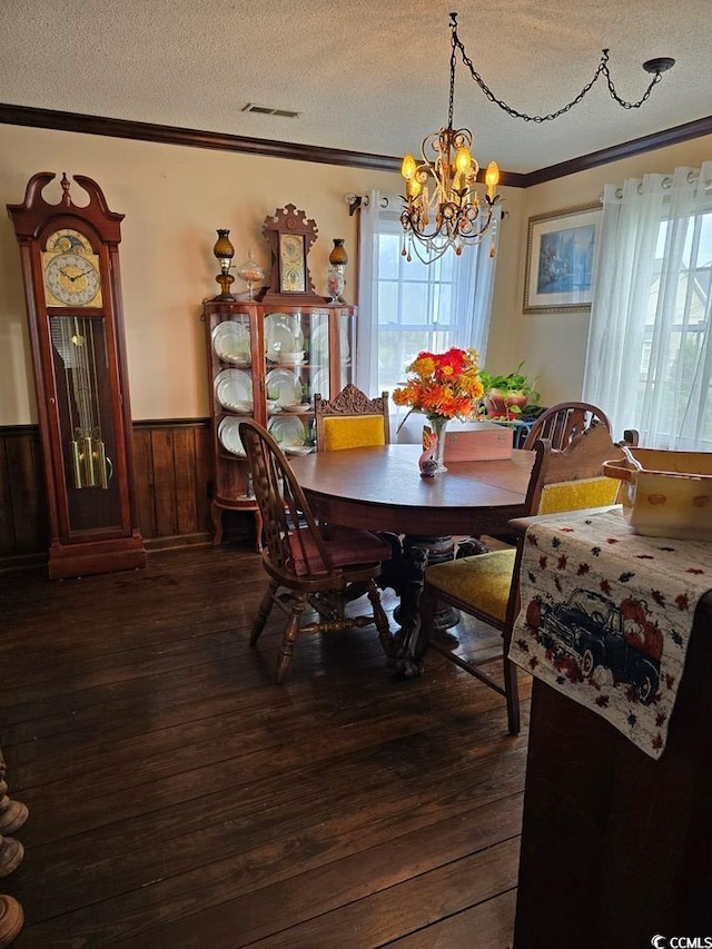
[[[419,445],[318,452],[290,458],[315,513],[354,527],[402,534],[502,533],[521,517],[534,455],[449,462],[421,477]]]

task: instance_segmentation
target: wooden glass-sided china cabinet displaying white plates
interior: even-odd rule
[[[263,288],[257,299],[204,301],[212,423],[214,543],[224,511],[250,512],[257,548],[261,524],[239,439],[241,418],[264,425],[284,452],[316,451],[314,396],[335,396],[353,377],[356,312],[309,294],[291,301]]]

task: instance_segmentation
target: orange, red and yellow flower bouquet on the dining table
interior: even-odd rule
[[[396,405],[442,418],[464,419],[476,414],[484,386],[475,349],[418,353],[406,372],[412,374],[406,384],[393,393]]]

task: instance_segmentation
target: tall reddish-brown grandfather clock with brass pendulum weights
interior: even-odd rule
[[[49,576],[146,566],[132,500],[131,409],[126,372],[119,241],[123,215],[96,181],[76,205],[62,175],[57,205],[30,178],[8,205],[20,245],[49,503]]]

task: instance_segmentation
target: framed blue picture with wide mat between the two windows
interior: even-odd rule
[[[524,313],[591,309],[593,248],[601,205],[530,218]]]

